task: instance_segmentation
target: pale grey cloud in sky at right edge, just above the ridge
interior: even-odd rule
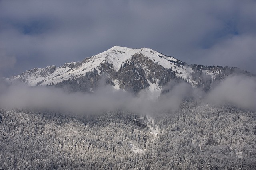
[[[236,66],[256,73],[256,36],[230,37],[205,51],[203,62],[212,65]]]

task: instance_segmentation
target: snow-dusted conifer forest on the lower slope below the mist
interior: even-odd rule
[[[1,170],[253,170],[255,144],[254,111],[192,99],[151,115],[0,111]]]

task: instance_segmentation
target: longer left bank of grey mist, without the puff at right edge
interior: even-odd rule
[[[133,113],[168,112],[179,108],[190,86],[177,84],[161,96],[142,90],[136,96],[111,86],[102,86],[94,93],[68,93],[53,86],[30,87],[24,84],[0,86],[0,106],[15,109],[51,110],[66,113],[102,113],[125,110]]]

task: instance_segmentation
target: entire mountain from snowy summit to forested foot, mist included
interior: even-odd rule
[[[256,169],[256,78],[239,68],[115,46],[6,80],[0,170]]]

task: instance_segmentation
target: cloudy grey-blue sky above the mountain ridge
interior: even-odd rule
[[[0,76],[114,45],[256,74],[255,0],[0,0]]]

